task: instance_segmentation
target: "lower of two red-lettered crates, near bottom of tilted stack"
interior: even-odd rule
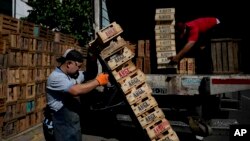
[[[172,127],[166,118],[153,122],[146,127],[149,137],[156,140],[160,139],[164,135],[167,135],[169,130],[172,130]]]

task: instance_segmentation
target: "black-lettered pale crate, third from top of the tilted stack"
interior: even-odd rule
[[[130,49],[128,49],[127,47],[124,47],[119,52],[106,58],[105,61],[109,65],[110,69],[114,70],[120,65],[122,65],[123,63],[131,60],[134,56],[135,54]]]

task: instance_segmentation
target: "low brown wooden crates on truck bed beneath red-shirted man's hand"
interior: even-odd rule
[[[179,62],[178,74],[195,74],[195,58],[183,58]]]

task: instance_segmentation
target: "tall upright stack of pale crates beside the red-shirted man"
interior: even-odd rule
[[[177,65],[168,64],[168,57],[176,55],[175,8],[156,9],[155,21],[157,68],[177,68]]]

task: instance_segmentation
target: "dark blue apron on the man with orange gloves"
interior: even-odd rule
[[[53,113],[53,128],[56,141],[82,141],[80,117],[65,106]]]

